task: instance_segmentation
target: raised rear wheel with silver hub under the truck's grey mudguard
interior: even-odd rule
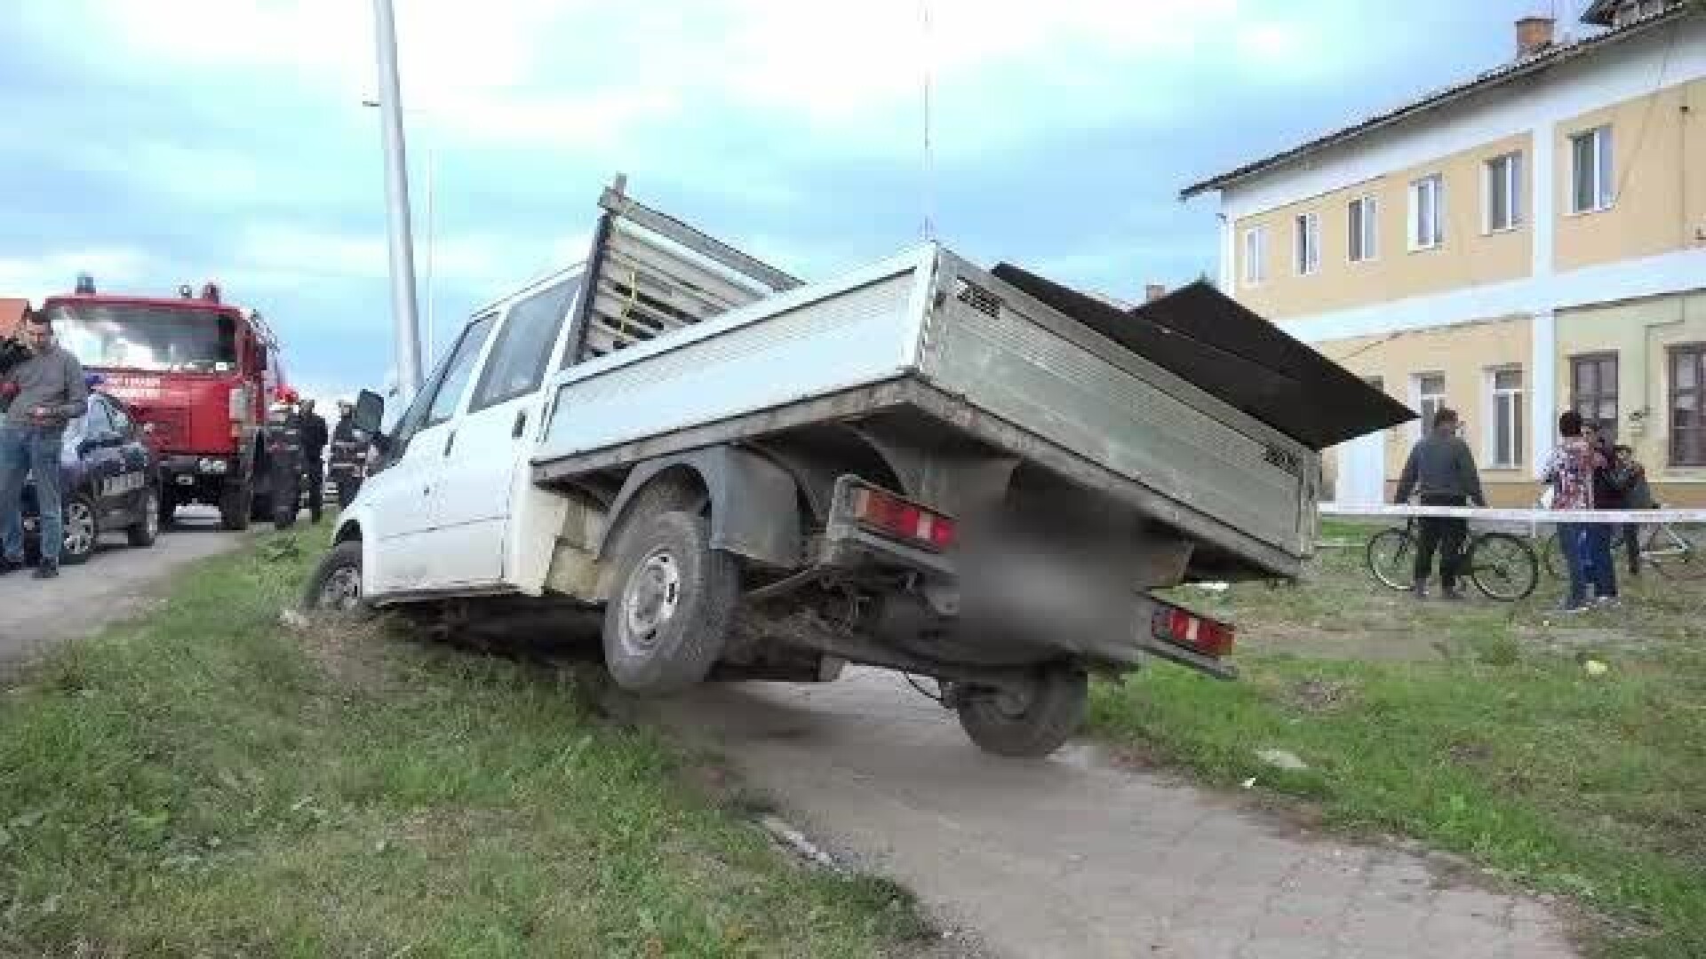
[[[604,662],[623,689],[676,693],[717,664],[740,597],[739,561],[711,549],[705,519],[635,515],[616,544],[604,607]]]

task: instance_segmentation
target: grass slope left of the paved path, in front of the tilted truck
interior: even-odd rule
[[[0,695],[0,954],[851,957],[925,933],[570,674],[280,628],[310,561],[271,538],[201,565]]]

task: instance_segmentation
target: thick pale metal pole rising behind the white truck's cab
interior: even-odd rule
[[[396,321],[397,389],[409,403],[421,387],[420,323],[415,309],[415,234],[409,225],[408,157],[403,145],[403,92],[397,82],[397,29],[391,0],[374,0],[379,48],[379,114],[386,143],[386,232],[391,241],[391,311]]]

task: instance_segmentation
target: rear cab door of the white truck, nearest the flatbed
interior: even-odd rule
[[[524,292],[503,314],[466,411],[444,444],[432,507],[433,585],[503,582],[517,469],[539,423],[539,387],[575,300],[578,276]]]

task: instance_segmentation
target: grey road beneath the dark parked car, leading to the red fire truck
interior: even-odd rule
[[[244,541],[220,529],[218,514],[186,509],[148,549],[107,536],[87,563],[61,567],[55,580],[31,578],[34,570],[0,577],[0,664],[142,613],[181,567]]]

